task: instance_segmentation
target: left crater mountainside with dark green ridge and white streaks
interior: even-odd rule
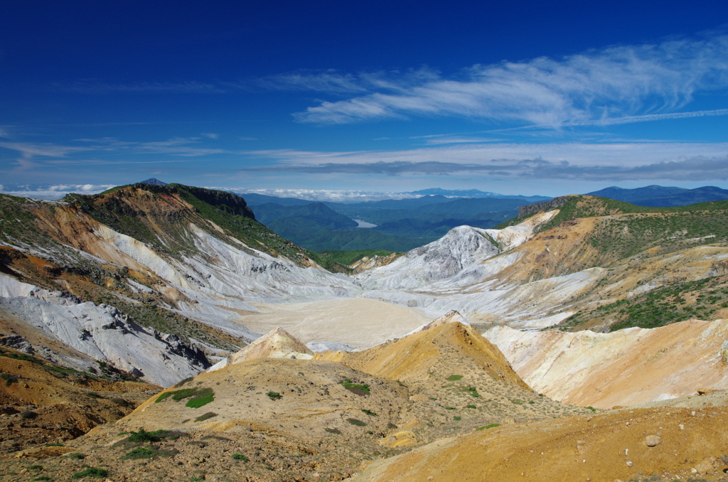
[[[234,194],[137,184],[66,202],[2,196],[0,205],[0,311],[21,330],[163,385],[256,339],[235,323],[258,311],[252,303],[355,291]]]

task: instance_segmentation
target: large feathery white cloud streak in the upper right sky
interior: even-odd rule
[[[319,124],[408,116],[464,116],[550,127],[617,123],[628,116],[629,122],[645,122],[660,119],[651,115],[684,108],[696,92],[728,89],[728,36],[477,65],[451,79],[432,72],[416,82],[411,76],[386,77],[381,87],[357,83],[365,94],[325,101],[294,117]]]

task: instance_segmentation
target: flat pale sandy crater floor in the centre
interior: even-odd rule
[[[364,298],[256,307],[261,311],[242,315],[237,323],[259,333],[280,326],[304,344],[339,341],[360,349],[403,336],[432,320],[419,309]]]

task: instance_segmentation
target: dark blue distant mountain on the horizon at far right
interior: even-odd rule
[[[617,186],[587,193],[590,196],[609,197],[617,201],[630,202],[638,206],[669,208],[687,206],[698,202],[721,201],[728,199],[728,190],[716,186],[703,186],[695,189],[681,187],[645,186],[636,189],[622,189]]]

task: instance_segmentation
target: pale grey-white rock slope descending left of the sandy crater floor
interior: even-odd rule
[[[254,304],[280,304],[351,298],[359,291],[343,275],[317,267],[301,267],[287,258],[274,258],[232,237],[224,242],[194,224],[187,236],[197,253],[172,258],[143,242],[98,226],[92,254],[100,260],[149,273],[148,285],[130,280],[138,291],[157,291],[177,302],[181,315],[242,339],[259,335],[235,323],[241,312],[257,312]]]

